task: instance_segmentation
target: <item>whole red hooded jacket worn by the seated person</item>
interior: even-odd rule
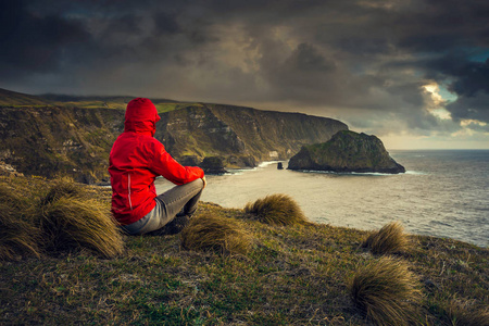
[[[176,185],[204,176],[197,166],[181,166],[154,136],[160,120],[149,99],[127,104],[124,133],[112,146],[109,173],[112,185],[112,214],[121,225],[131,224],[156,204],[154,179],[162,175]]]

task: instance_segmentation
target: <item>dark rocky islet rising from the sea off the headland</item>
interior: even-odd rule
[[[375,136],[339,131],[323,143],[305,146],[289,161],[290,170],[404,173]]]

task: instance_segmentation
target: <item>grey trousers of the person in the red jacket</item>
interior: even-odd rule
[[[173,187],[154,198],[156,205],[151,212],[121,228],[129,235],[145,235],[161,230],[174,220],[187,221],[197,210],[202,189],[202,179]]]

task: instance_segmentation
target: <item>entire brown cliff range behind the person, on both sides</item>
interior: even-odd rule
[[[73,102],[41,105],[42,99],[38,105],[23,104],[26,98],[8,96],[17,100],[15,105],[0,105],[0,170],[67,175],[88,184],[109,179],[109,154],[124,130],[124,110],[90,103],[77,108]],[[9,97],[5,103],[12,101]],[[218,156],[225,167],[254,166],[259,161],[288,159],[304,145],[348,129],[339,121],[299,113],[202,103],[177,106],[160,113],[154,137],[184,164]]]

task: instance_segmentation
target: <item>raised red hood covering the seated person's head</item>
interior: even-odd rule
[[[156,131],[156,122],[160,121],[156,106],[149,99],[137,98],[127,103],[124,121],[124,131],[151,134]]]

